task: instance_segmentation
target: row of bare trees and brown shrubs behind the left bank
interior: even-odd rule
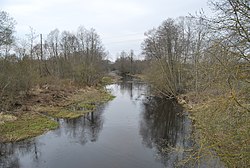
[[[33,28],[14,37],[15,20],[0,12],[0,107],[6,109],[35,85],[70,81],[97,85],[109,61],[99,35],[80,26],[76,32],[52,30],[47,37]]]

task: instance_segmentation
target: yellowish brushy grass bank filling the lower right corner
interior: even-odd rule
[[[250,105],[231,94],[187,95],[194,138],[198,149],[196,163],[206,158],[219,158],[226,167],[250,167]],[[247,108],[245,108],[247,107]]]

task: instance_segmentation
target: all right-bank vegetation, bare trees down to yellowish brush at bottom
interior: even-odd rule
[[[159,95],[188,104],[197,146],[184,162],[249,167],[250,4],[210,3],[213,18],[167,19],[146,33],[145,76]]]

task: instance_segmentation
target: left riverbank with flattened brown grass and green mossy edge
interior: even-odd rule
[[[113,99],[102,87],[45,85],[32,89],[11,112],[0,113],[0,142],[14,142],[56,129],[54,118],[77,118]]]

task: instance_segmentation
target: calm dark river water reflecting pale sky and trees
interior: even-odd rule
[[[173,101],[152,98],[149,86],[107,86],[116,98],[94,113],[18,143],[0,144],[6,168],[175,167],[190,146],[190,120]]]

